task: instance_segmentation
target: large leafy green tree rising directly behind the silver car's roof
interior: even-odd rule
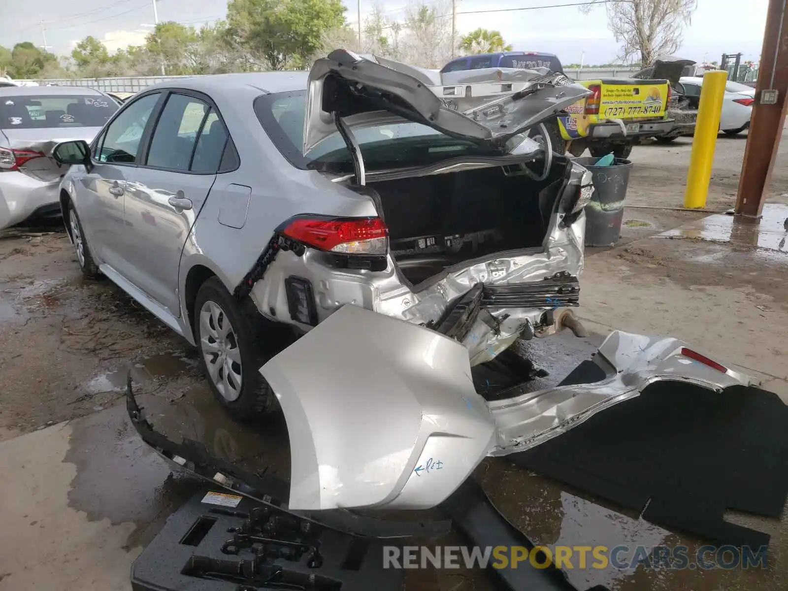
[[[306,67],[325,32],[345,24],[341,0],[230,0],[228,35],[258,67]]]

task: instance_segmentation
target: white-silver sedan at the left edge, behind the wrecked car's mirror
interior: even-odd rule
[[[117,109],[90,88],[0,88],[0,229],[60,215],[65,168],[54,165],[50,151],[66,139],[90,141]]]

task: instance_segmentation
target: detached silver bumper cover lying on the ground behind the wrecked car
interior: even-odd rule
[[[485,456],[544,443],[655,381],[754,383],[681,341],[618,331],[594,362],[605,376],[596,383],[513,388],[489,403],[456,340],[341,307],[260,370],[288,424],[291,507],[434,507]]]

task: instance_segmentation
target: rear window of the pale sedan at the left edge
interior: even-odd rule
[[[0,128],[102,127],[118,110],[106,96],[0,97]]]

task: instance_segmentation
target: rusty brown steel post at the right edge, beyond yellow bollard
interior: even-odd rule
[[[747,132],[737,216],[760,217],[788,110],[788,0],[769,0],[764,45]]]

